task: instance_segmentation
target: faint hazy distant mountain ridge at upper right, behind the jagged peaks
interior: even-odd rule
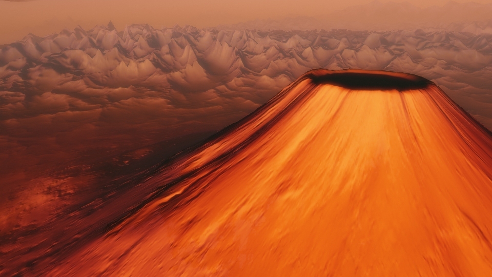
[[[380,3],[348,7],[327,16],[295,16],[283,19],[255,19],[230,25],[226,30],[447,30],[491,33],[492,4],[448,2],[442,7],[418,8],[404,3]]]

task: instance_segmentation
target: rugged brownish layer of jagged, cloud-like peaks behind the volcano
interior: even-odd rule
[[[157,106],[162,111],[219,107],[247,113],[315,67],[419,74],[439,80],[458,102],[468,95],[477,102],[473,107],[486,106],[492,86],[489,41],[487,35],[452,31],[261,32],[132,25],[116,33],[104,26],[77,27],[44,38],[30,35],[0,50],[0,120],[100,109],[101,122],[113,118],[112,124],[123,125],[114,120],[116,114],[142,123],[169,116]],[[477,117],[490,116],[486,109],[462,105]],[[133,116],[121,113],[122,107]]]

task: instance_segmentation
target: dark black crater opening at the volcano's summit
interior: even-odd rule
[[[423,89],[430,81],[416,75],[395,76],[380,73],[340,72],[309,76],[315,84],[331,84],[338,87],[358,90],[409,90]]]

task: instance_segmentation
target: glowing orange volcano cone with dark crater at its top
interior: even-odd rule
[[[137,204],[103,207],[123,214],[103,235],[37,266],[80,276],[489,276],[491,155],[491,134],[422,77],[313,70],[121,196]]]

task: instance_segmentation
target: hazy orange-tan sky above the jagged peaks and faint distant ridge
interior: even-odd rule
[[[64,26],[80,24],[91,29],[110,20],[121,30],[127,24],[149,23],[160,28],[175,24],[196,27],[232,24],[256,18],[279,19],[288,15],[316,16],[373,0],[0,0],[0,44],[29,32],[46,35]],[[381,0],[380,2],[388,2]],[[401,1],[394,1],[401,2]],[[409,0],[418,7],[442,6],[447,0]],[[457,2],[468,2],[458,0]],[[491,3],[492,0],[475,0]]]

